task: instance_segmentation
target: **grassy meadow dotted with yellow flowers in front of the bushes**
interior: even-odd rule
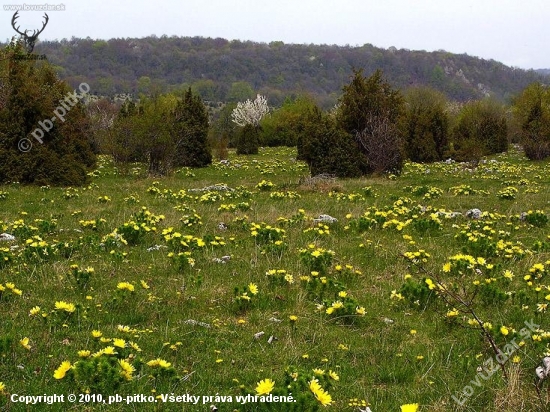
[[[69,410],[10,401],[54,393],[159,399],[76,410],[547,410],[547,162],[512,148],[340,180],[294,158],[155,179],[102,157],[84,188],[0,186],[0,410]],[[235,401],[269,392],[297,402]]]

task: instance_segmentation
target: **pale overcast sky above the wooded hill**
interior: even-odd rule
[[[0,38],[15,32],[3,0]],[[17,0],[15,0],[17,1]],[[35,0],[25,0],[30,4]],[[162,36],[363,45],[467,53],[521,68],[550,68],[550,0],[69,0],[41,39]],[[21,29],[43,12],[22,11]]]

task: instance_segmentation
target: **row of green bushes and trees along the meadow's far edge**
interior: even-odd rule
[[[44,142],[24,152],[18,142],[51,118],[71,89],[50,64],[23,54],[13,44],[0,56],[1,183],[83,184],[98,154],[112,156],[122,171],[142,162],[149,174],[166,175],[224,159],[231,147],[246,155],[262,145],[296,146],[312,175],[340,177],[398,174],[407,159],[477,162],[511,142],[522,143],[530,159],[550,156],[550,90],[541,83],[505,106],[493,98],[450,101],[427,86],[400,90],[381,70],[367,77],[362,69],[328,110],[306,94],[272,106],[259,93],[211,110],[191,87],[135,101],[89,98],[63,122],[50,122]]]

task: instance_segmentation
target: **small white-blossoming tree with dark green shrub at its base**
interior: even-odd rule
[[[260,146],[260,121],[269,113],[267,99],[258,94],[253,101],[237,103],[231,120],[241,126],[237,136],[237,154],[257,154]]]

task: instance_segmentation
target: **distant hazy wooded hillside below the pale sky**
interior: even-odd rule
[[[528,84],[548,81],[541,72],[446,51],[363,46],[256,43],[203,37],[146,37],[39,42],[62,79],[86,82],[94,94],[182,92],[191,87],[206,101],[232,102],[265,95],[271,105],[309,94],[323,107],[336,103],[352,69],[381,69],[398,88],[428,85],[449,99],[484,95],[508,102]]]

